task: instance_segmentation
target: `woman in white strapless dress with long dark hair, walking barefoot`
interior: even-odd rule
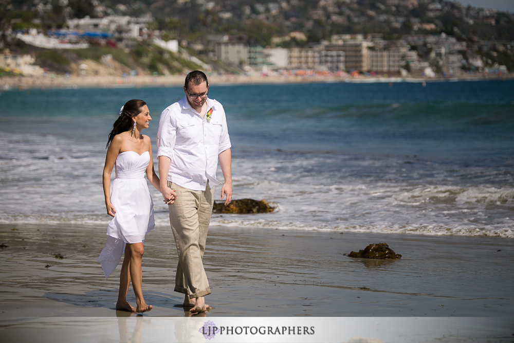
[[[116,310],[137,313],[152,310],[152,305],[144,302],[141,290],[144,236],[155,226],[153,202],[144,179],[145,173],[152,185],[160,191],[159,178],[152,163],[150,137],[141,134],[141,130],[148,128],[151,120],[146,102],[128,100],[121,107],[113,130],[109,133],[103,168],[105,206],[113,219],[107,226],[107,243],[97,261],[101,263],[105,277],[108,278],[125,250]],[[111,184],[114,166],[116,179]],[[136,295],[136,308],[126,301],[131,281]]]

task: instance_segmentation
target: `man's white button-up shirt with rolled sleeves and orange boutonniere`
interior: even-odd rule
[[[210,119],[207,112],[212,109]],[[171,159],[168,180],[194,191],[221,185],[216,179],[218,155],[230,149],[227,118],[221,103],[207,98],[202,118],[187,96],[162,111],[157,131],[157,157]]]

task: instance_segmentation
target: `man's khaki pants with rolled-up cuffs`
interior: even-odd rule
[[[177,245],[178,266],[175,292],[198,298],[211,293],[202,259],[214,204],[214,188],[192,191],[168,181],[177,192],[177,200],[169,205],[170,224]]]

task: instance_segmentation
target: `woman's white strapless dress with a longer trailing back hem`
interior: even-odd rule
[[[121,260],[126,243],[139,243],[155,226],[154,204],[146,179],[150,152],[124,151],[116,158],[116,178],[111,183],[111,203],[116,215],[107,226],[107,243],[97,261],[108,278]]]

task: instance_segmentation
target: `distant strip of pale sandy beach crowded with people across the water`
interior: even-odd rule
[[[451,82],[451,81],[490,81],[514,79],[514,75],[466,75],[460,77],[351,77],[351,76],[246,76],[209,75],[209,83],[216,85],[237,84],[288,84],[288,83],[395,83],[395,82]],[[174,87],[183,85],[185,75],[173,76],[11,76],[0,78],[0,91],[12,89],[76,89],[76,88],[123,88],[123,87]]]

